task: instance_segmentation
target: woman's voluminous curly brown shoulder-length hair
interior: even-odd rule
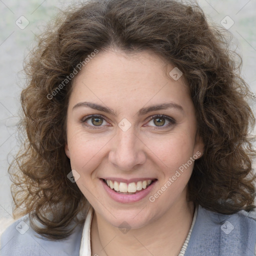
[[[204,143],[188,182],[190,200],[224,214],[252,210],[251,93],[223,32],[207,23],[196,3],[175,0],[92,0],[60,14],[25,65],[20,128],[26,134],[9,168],[14,213],[29,213],[33,228],[51,239],[67,237],[72,221],[81,221],[78,213],[89,203],[67,178],[64,152],[73,79],[62,82],[88,54],[110,47],[150,49],[183,72]]]

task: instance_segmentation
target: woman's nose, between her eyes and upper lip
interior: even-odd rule
[[[146,160],[144,147],[145,145],[134,133],[132,127],[126,131],[117,128],[108,160],[120,170],[134,169]]]

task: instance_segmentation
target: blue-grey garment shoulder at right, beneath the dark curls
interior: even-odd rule
[[[255,243],[255,212],[226,215],[199,205],[185,255],[255,256]]]

